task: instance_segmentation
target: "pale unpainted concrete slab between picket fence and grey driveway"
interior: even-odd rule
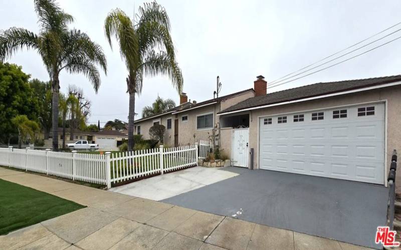
[[[141,198],[161,200],[237,175],[236,172],[195,166],[113,187],[110,190]]]

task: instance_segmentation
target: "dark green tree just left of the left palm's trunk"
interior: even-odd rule
[[[38,120],[41,125],[44,138],[49,138],[52,129],[52,86],[51,82],[45,82],[38,79],[30,80],[30,85],[34,90],[34,96],[38,100],[39,113]]]

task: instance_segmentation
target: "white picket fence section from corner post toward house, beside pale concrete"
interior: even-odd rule
[[[197,143],[177,146],[118,152],[111,155],[111,182],[144,178],[197,165]]]

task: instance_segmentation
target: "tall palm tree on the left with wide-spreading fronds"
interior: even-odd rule
[[[53,149],[58,148],[59,75],[65,69],[83,73],[97,92],[100,85],[99,65],[106,73],[107,62],[102,48],[77,29],[69,29],[74,18],[54,0],[34,0],[40,32],[11,27],[0,32],[0,61],[24,47],[35,49],[42,57],[52,83]]]

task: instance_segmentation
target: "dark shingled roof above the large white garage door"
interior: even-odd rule
[[[343,81],[318,82],[310,85],[272,92],[266,95],[251,97],[233,106],[230,106],[218,113],[222,114],[227,112],[240,111],[246,108],[253,108],[253,107],[257,108],[258,106],[270,105],[285,101],[299,100],[326,94],[333,94],[347,90],[354,90],[358,88],[376,86],[385,83],[392,83],[396,81],[401,81],[401,75],[383,76],[383,77],[366,78],[366,79],[343,80]]]

